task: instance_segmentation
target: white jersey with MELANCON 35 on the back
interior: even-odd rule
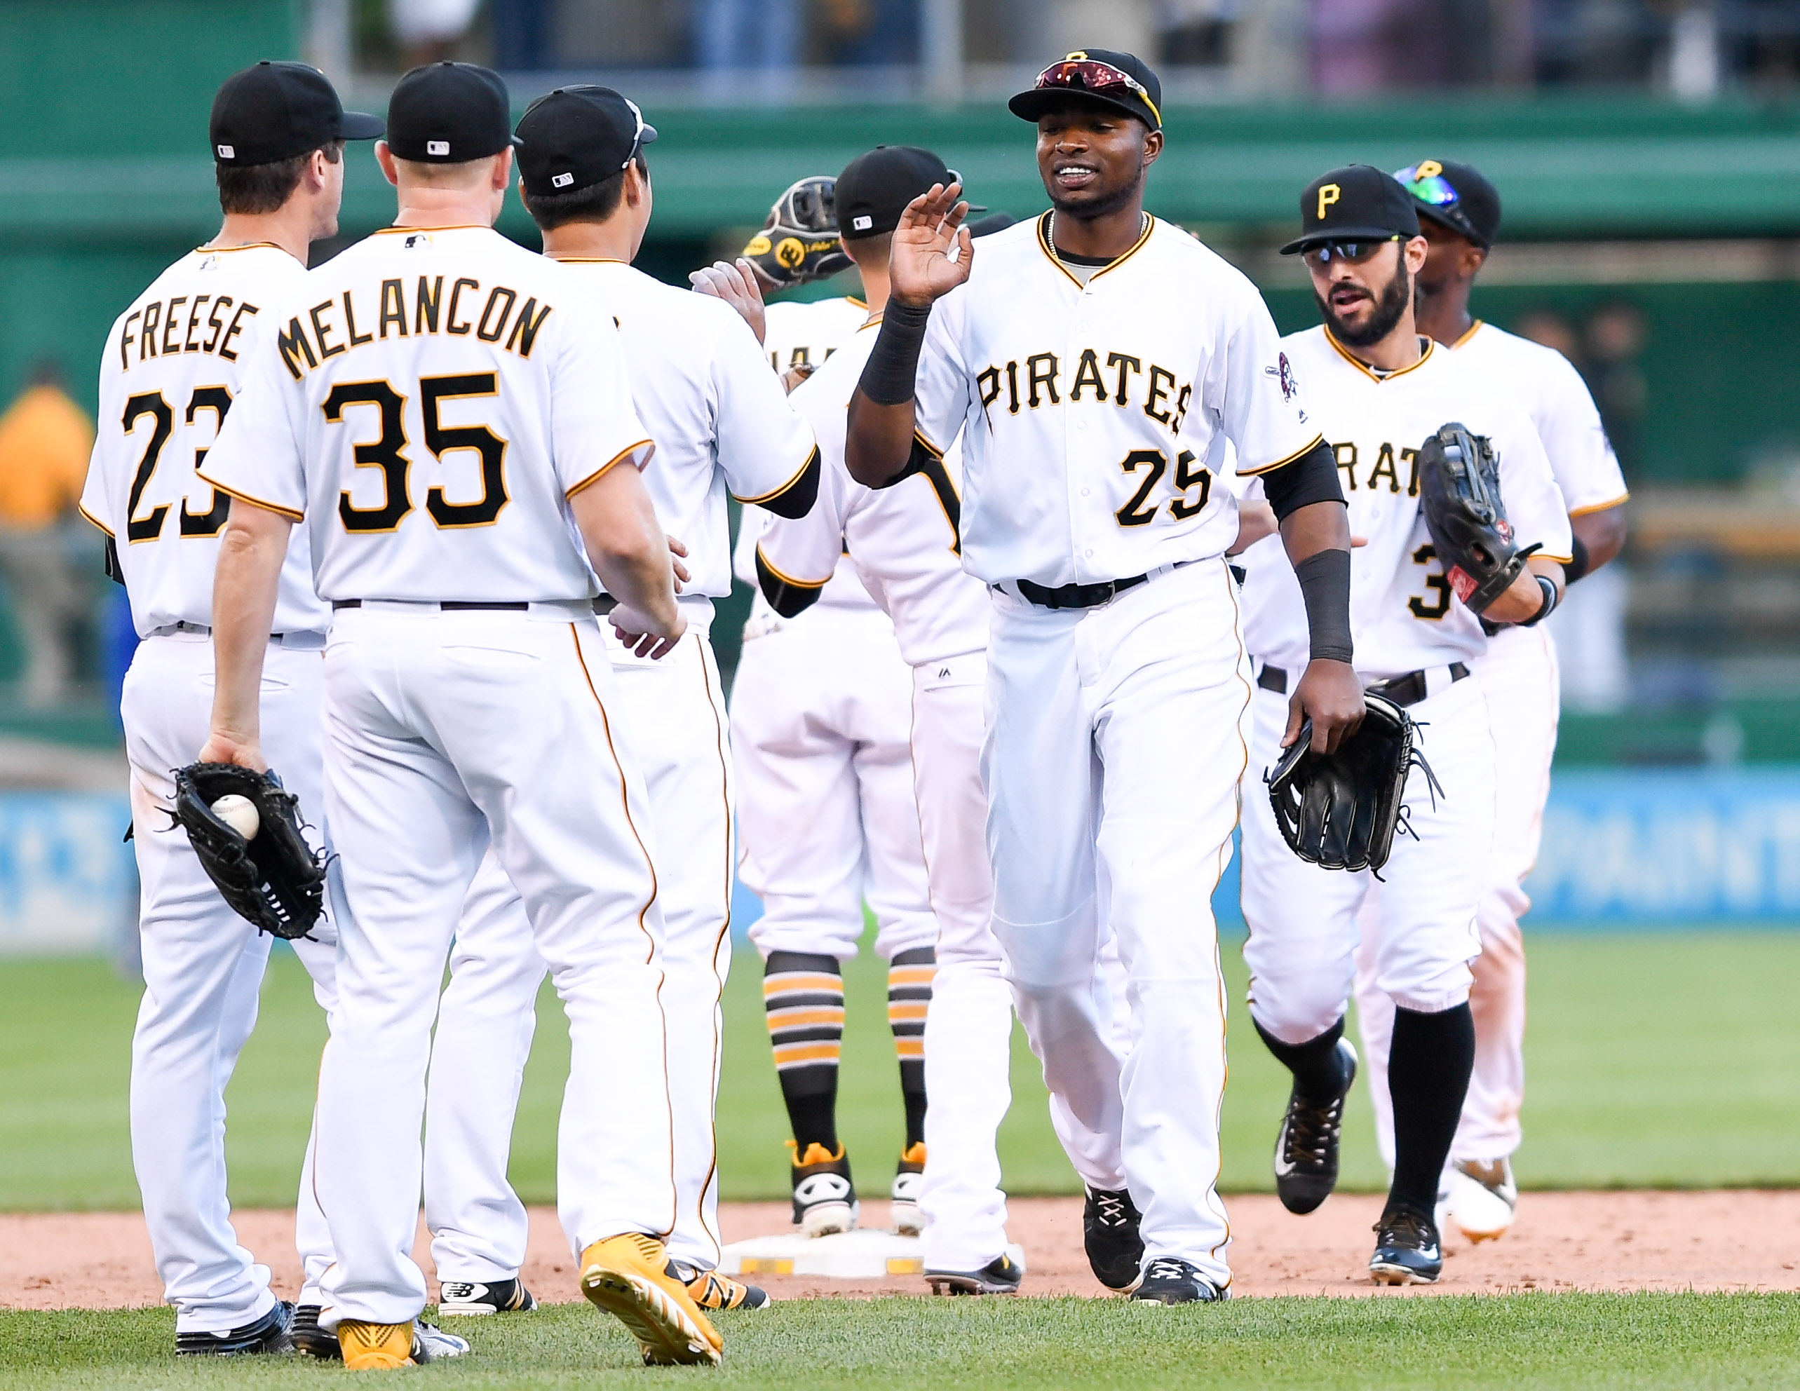
[[[376,232],[279,310],[202,477],[304,518],[324,599],[592,597],[567,498],[653,444],[590,281],[486,227]]]

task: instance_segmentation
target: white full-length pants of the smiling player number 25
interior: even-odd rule
[[[1147,1260],[1226,1287],[1219,1198],[1226,1006],[1211,893],[1231,855],[1249,664],[1222,560],[1107,605],[1051,610],[997,592],[983,779],[994,932],[1053,1096],[1120,1166]],[[1129,981],[1120,1049],[1107,929]],[[1127,1008],[1127,1006],[1118,1006]]]

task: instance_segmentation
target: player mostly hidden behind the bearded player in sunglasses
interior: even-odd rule
[[[1418,202],[1426,263],[1415,283],[1418,331],[1480,369],[1530,416],[1550,457],[1550,471],[1570,509],[1573,585],[1618,554],[1625,540],[1625,479],[1606,439],[1600,412],[1580,374],[1552,347],[1519,338],[1469,313],[1469,290],[1499,230],[1499,193],[1480,171],[1453,160],[1420,160],[1395,173]],[[1489,698],[1499,768],[1494,803],[1490,884],[1476,925],[1481,956],[1472,963],[1474,1072],[1444,1175],[1444,1216],[1471,1240],[1512,1225],[1517,1186],[1510,1155],[1519,1148],[1525,1101],[1525,939],[1519,918],[1530,907],[1523,880],[1537,860],[1550,756],[1557,743],[1555,623],[1496,632],[1474,662]],[[1370,911],[1364,909],[1364,921]],[[1357,1022],[1370,1063],[1370,1096],[1382,1157],[1393,1164],[1388,1103],[1388,1035],[1393,1002],[1375,986],[1379,929],[1357,954]]]

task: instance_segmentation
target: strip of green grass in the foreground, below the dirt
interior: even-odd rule
[[[1112,1299],[812,1299],[720,1319],[718,1369],[646,1371],[589,1308],[459,1321],[473,1355],[441,1386],[590,1387],[1782,1387],[1800,1384],[1796,1296],[1528,1294],[1242,1299],[1177,1310]],[[176,1362],[169,1310],[0,1312],[11,1387],[338,1382],[297,1359]],[[198,1366],[196,1366],[198,1362]]]

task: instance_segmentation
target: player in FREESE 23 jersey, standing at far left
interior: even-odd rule
[[[331,83],[302,63],[229,77],[209,128],[223,227],[119,315],[101,360],[81,511],[106,533],[108,574],[124,583],[144,639],[119,711],[142,882],[131,1157],[164,1297],[176,1308],[178,1353],[286,1351],[293,1333],[293,1306],[270,1294],[268,1267],[238,1243],[225,1197],[225,1083],[256,1024],[272,938],[220,898],[169,815],[171,768],[191,763],[207,738],[212,567],[230,511],[194,470],[239,399],[247,365],[274,340],[275,310],[306,279],[308,243],[337,232],[344,142],[380,133],[376,117],[346,112]],[[279,565],[261,702],[266,754],[315,817],[328,623],[306,536],[295,536]],[[329,920],[293,947],[329,1015]],[[301,1305],[313,1315],[331,1247],[310,1153],[297,1236]]]

